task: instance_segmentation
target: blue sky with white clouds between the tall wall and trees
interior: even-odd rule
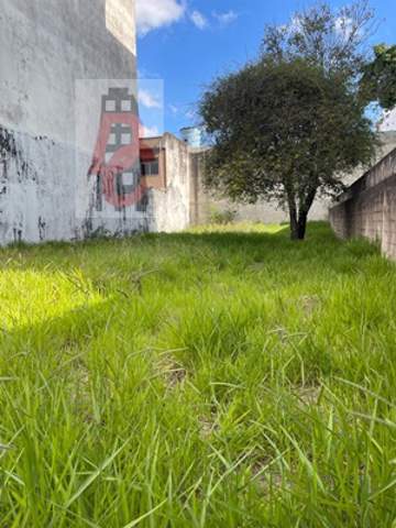
[[[372,0],[375,42],[396,43],[396,0]],[[136,0],[140,111],[147,135],[195,124],[205,86],[253,58],[266,23],[286,23],[302,0]],[[348,3],[332,0],[334,7]]]

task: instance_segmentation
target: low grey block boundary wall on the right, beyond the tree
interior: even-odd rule
[[[396,148],[340,197],[330,222],[339,237],[378,241],[396,258]]]

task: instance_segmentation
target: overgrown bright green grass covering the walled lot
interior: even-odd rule
[[[0,526],[396,526],[396,267],[310,224],[0,252]]]

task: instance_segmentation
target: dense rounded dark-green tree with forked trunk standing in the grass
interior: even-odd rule
[[[234,200],[276,200],[304,239],[318,194],[373,156],[374,134],[339,76],[301,59],[260,61],[218,79],[200,114],[213,145],[206,183]]]

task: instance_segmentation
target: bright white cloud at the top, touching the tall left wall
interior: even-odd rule
[[[136,0],[138,33],[144,36],[152,30],[180,20],[186,7],[180,0]]]

